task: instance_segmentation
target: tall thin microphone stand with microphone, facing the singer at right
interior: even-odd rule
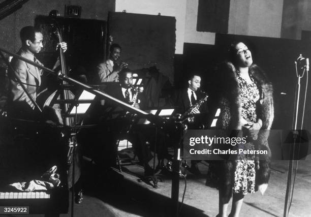
[[[297,60],[302,59],[302,56],[300,54],[300,56],[298,57]],[[285,195],[285,205],[284,205],[284,215],[283,217],[288,217],[289,214],[289,210],[290,210],[290,203],[291,201],[290,198],[292,198],[292,174],[293,174],[293,165],[294,165],[294,158],[295,158],[295,150],[296,150],[296,139],[297,139],[297,121],[298,121],[298,109],[299,109],[299,98],[300,98],[300,81],[301,78],[304,75],[304,71],[302,73],[302,75],[299,75],[297,72],[297,62],[295,62],[296,64],[296,73],[297,73],[297,78],[298,78],[298,93],[297,93],[297,99],[296,99],[296,108],[295,108],[295,126],[293,129],[293,145],[290,146],[290,160],[289,160],[289,164],[288,164],[288,176],[287,176],[287,187],[286,187],[286,195]],[[309,59],[306,58],[306,64],[304,65],[303,69],[306,71],[306,73],[309,72]],[[303,119],[301,120],[303,121]],[[301,125],[301,129],[302,130],[302,125]],[[295,169],[296,170],[296,169]],[[295,171],[296,172],[296,171]]]

